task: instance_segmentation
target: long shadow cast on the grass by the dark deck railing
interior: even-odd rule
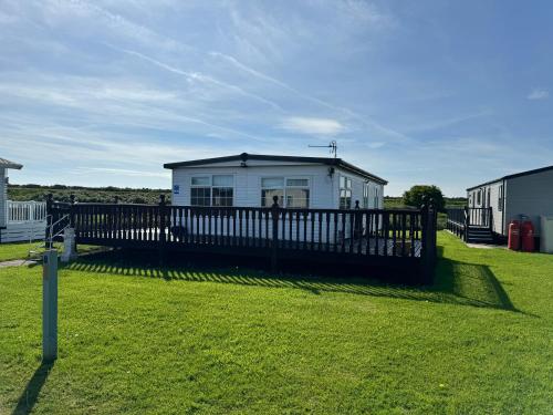
[[[95,273],[114,273],[166,281],[233,283],[268,288],[293,288],[312,294],[344,292],[359,295],[388,297],[436,303],[462,304],[519,312],[509,295],[486,266],[457,262],[441,258],[436,268],[432,286],[413,287],[386,282],[386,276],[373,278],[355,272],[336,272],[325,268],[294,269],[294,272],[271,273],[252,262],[240,263],[236,259],[218,264],[215,258],[180,258],[170,266],[158,267],[157,257],[145,252],[112,251],[81,258],[66,269]],[[232,262],[234,260],[234,262]],[[233,263],[232,267],[229,267]],[[315,273],[310,273],[315,272]],[[382,278],[384,277],[384,278]]]

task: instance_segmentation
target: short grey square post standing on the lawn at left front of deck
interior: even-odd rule
[[[44,252],[42,264],[42,361],[58,359],[58,250]]]

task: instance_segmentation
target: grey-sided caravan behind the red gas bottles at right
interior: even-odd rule
[[[507,237],[509,222],[526,216],[541,236],[541,218],[553,216],[553,166],[517,173],[467,189],[469,208],[491,208],[492,231]]]

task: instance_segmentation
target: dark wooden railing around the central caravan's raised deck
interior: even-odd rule
[[[420,266],[436,260],[436,211],[422,209],[289,209],[122,204],[48,204],[67,215],[79,243],[204,251],[280,259]]]

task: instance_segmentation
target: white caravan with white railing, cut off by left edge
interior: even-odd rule
[[[8,200],[8,169],[21,169],[18,163],[0,158],[0,243],[44,239],[46,204]]]

